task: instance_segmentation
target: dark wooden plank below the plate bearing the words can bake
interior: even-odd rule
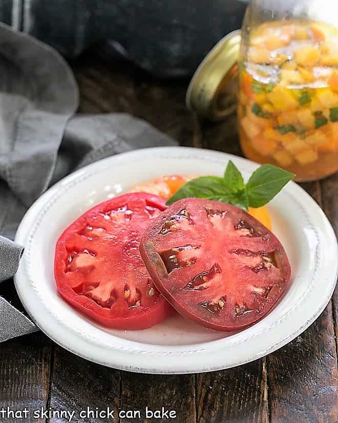
[[[155,414],[146,418],[145,409],[155,412],[164,410],[176,413],[167,421],[195,423],[195,376],[194,375],[143,375],[122,373],[120,410],[139,410],[141,418],[120,418],[120,423],[156,423],[166,421]]]

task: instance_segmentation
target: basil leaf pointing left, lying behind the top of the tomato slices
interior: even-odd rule
[[[219,176],[200,176],[189,180],[181,187],[170,199],[166,205],[171,206],[181,198],[206,198],[209,200],[229,203],[234,206],[247,210],[248,199],[245,190],[233,192],[229,189],[225,179]]]

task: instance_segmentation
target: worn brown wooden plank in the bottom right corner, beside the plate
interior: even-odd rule
[[[322,205],[320,184],[302,186]],[[311,327],[267,359],[271,423],[338,421],[331,302]]]

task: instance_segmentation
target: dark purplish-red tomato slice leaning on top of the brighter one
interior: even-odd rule
[[[208,328],[245,328],[276,304],[290,279],[280,241],[243,210],[184,198],[157,217],[141,256],[155,285],[184,317]]]

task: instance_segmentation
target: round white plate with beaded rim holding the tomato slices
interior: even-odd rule
[[[81,357],[144,373],[194,373],[238,366],[281,348],[303,332],[332,295],[338,253],[326,216],[294,183],[268,205],[273,232],[290,259],[292,283],[276,308],[242,332],[207,330],[179,316],[143,331],[110,330],[77,313],[57,294],[54,246],[60,233],[79,215],[154,177],[173,173],[222,175],[229,159],[245,178],[258,166],[216,151],[151,148],[100,160],[50,188],[29,209],[15,238],[25,246],[15,286],[36,325]]]

